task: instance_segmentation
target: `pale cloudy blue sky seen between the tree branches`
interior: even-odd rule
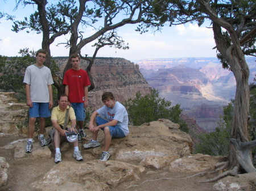
[[[19,6],[18,10],[13,11],[15,7],[14,0],[0,1],[0,11],[15,15],[16,20],[23,20],[24,16],[34,12],[33,7]],[[38,50],[41,48],[42,35],[35,32],[27,33],[21,31],[15,33],[11,31],[12,22],[5,19],[0,20],[0,55],[16,56],[19,49],[30,48]],[[137,25],[129,24],[118,29],[118,35],[122,36],[126,43],[129,43],[130,49],[117,50],[104,47],[98,57],[120,57],[130,61],[137,61],[144,58],[182,58],[182,57],[216,57],[216,49],[213,39],[212,29],[198,27],[196,23],[186,24],[174,27],[164,27],[162,32],[147,32],[143,35],[135,31]],[[92,32],[92,31],[90,31]],[[63,36],[51,45],[52,56],[68,56],[68,49],[64,45],[56,46],[69,39],[69,36]],[[91,44],[86,45],[81,53],[92,56],[94,49]]]

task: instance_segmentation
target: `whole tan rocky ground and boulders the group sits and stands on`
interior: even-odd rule
[[[27,137],[26,104],[16,103],[12,93],[0,93],[0,190],[189,190],[255,191],[256,173],[225,177],[217,182],[197,183],[216,176],[210,172],[226,161],[222,156],[192,154],[191,137],[179,125],[159,119],[141,126],[129,126],[130,134],[113,139],[110,159],[101,162],[104,146],[84,150],[84,161],[73,157],[71,143],[61,145],[63,161],[54,163],[53,146],[40,147],[34,134],[32,153],[24,150]],[[46,128],[45,137],[52,127]],[[85,129],[89,138],[91,133]],[[220,172],[222,173],[222,172]]]

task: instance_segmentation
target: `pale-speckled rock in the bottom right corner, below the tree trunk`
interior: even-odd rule
[[[213,191],[255,190],[256,172],[227,176],[213,185]]]

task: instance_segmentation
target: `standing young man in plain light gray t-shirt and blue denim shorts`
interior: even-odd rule
[[[42,147],[47,145],[46,139],[44,138],[44,128],[46,118],[51,116],[49,109],[53,107],[53,80],[51,70],[44,66],[46,56],[46,50],[40,49],[36,52],[36,63],[27,67],[23,80],[26,90],[27,105],[30,107],[26,152],[32,151],[32,137],[35,131],[35,121],[37,117],[39,117],[40,145]]]

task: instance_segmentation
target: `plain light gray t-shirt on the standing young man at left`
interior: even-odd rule
[[[48,103],[48,85],[53,84],[51,70],[46,67],[30,65],[26,69],[23,83],[30,85],[30,97],[32,102]]]

